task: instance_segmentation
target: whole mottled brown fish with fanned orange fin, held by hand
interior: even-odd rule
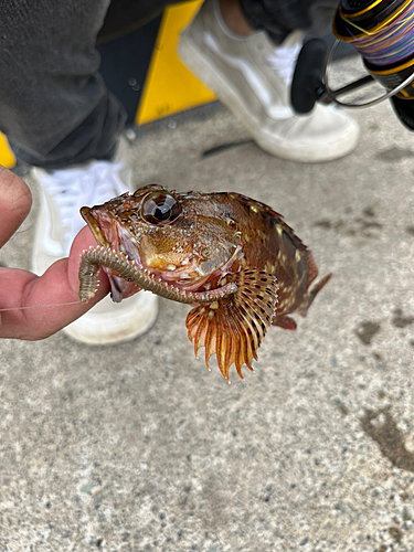
[[[160,184],[83,206],[96,247],[83,252],[79,300],[97,290],[100,267],[114,301],[139,289],[191,305],[185,320],[195,357],[216,355],[230,381],[234,364],[253,370],[270,326],[295,330],[331,274],[311,284],[311,252],[283,215],[233,192],[177,192]]]

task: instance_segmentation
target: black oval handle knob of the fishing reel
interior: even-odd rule
[[[290,103],[296,113],[310,113],[325,94],[323,73],[328,46],[321,39],[306,42],[298,55],[290,87]]]

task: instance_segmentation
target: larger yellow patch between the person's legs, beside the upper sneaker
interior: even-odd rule
[[[162,17],[136,123],[144,125],[213,102],[215,95],[179,60],[181,31],[192,21],[201,1],[168,8]]]

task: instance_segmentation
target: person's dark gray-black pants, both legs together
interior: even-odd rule
[[[251,24],[276,42],[294,29],[320,26],[337,3],[241,2]],[[18,158],[51,170],[110,158],[126,115],[99,75],[96,41],[138,28],[170,3],[0,1],[0,130]]]

